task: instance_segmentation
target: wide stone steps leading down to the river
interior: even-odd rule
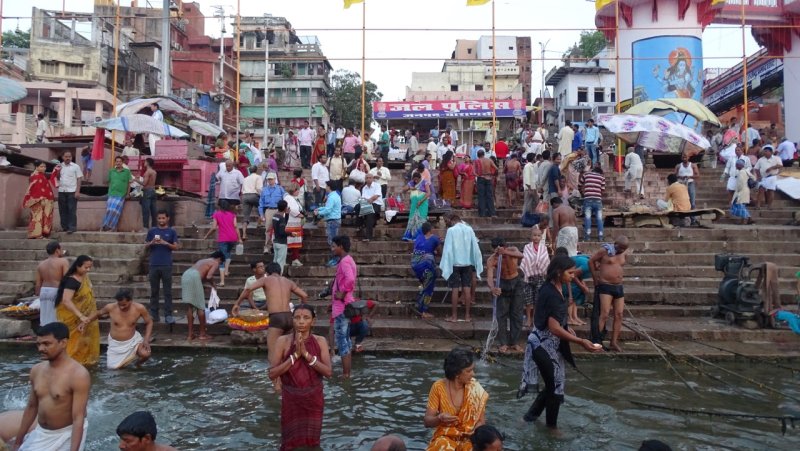
[[[724,185],[719,182],[720,172],[721,169],[702,170],[698,180],[698,206],[725,209],[727,195]],[[658,190],[666,185],[662,181],[667,171],[652,169],[651,174],[653,180],[647,185],[644,202],[654,204],[655,199],[661,197]],[[622,178],[615,174],[607,174],[607,177],[607,202],[617,205],[624,200],[621,196]],[[285,174],[281,174],[281,179],[282,183],[288,182]],[[401,171],[393,171],[393,188],[402,186],[402,180]],[[500,183],[502,177],[498,185]],[[502,191],[498,190],[498,203],[504,197]],[[800,267],[800,228],[779,225],[791,219],[794,208],[794,201],[779,198],[773,210],[756,213],[759,224],[755,227],[720,224],[711,229],[607,228],[606,236],[609,239],[621,234],[631,239],[634,253],[625,275],[626,303],[631,312],[640,321],[646,322],[648,327],[661,331],[654,336],[663,339],[774,339],[786,333],[731,328],[719,321],[710,321],[707,312],[716,302],[721,279],[721,274],[713,269],[713,259],[715,254],[722,252],[748,255],[752,263],[777,263],[782,274],[781,299],[786,305],[794,303],[793,275]],[[476,210],[461,210],[460,213],[476,229],[484,258],[488,257],[489,242],[495,236],[503,237],[509,245],[519,248],[528,242],[529,230],[518,225],[520,213],[516,209],[501,209],[497,218],[479,218]],[[207,230],[207,222],[198,218],[196,224],[198,228],[177,227],[182,249],[175,252],[176,277],[173,279],[179,321],[176,334],[185,334],[185,309],[179,303],[180,274],[216,247],[213,241],[201,239]],[[440,236],[444,237],[444,224],[435,226]],[[245,255],[234,257],[231,276],[227,278],[226,286],[219,289],[223,306],[228,309],[243,287],[245,278],[250,275],[249,263],[265,258],[261,253],[263,228],[256,230],[253,227],[251,224]],[[361,242],[354,227],[345,226],[341,231],[354,240],[352,255],[359,265],[363,297],[379,302],[373,335],[412,341],[418,338],[452,338],[453,335],[461,339],[485,338],[490,328],[492,307],[484,281],[478,284],[476,304],[473,306],[475,321],[472,323],[427,322],[414,318],[411,309],[419,283],[409,266],[412,246],[400,241],[404,228],[405,224],[386,225],[381,222],[376,229],[375,240],[370,243]],[[0,273],[0,303],[10,303],[32,292],[33,271],[37,262],[45,257],[44,241],[24,238],[23,231],[0,232],[0,261],[7,268]],[[145,275],[147,260],[142,245],[144,234],[78,232],[73,235],[57,234],[55,238],[62,241],[70,257],[86,253],[97,258],[91,277],[99,304],[110,302],[121,287],[131,288],[136,300],[147,303],[149,284]],[[584,253],[592,253],[597,248],[598,243],[582,242],[579,245],[579,250]],[[327,333],[328,328],[326,307],[329,300],[316,300],[316,295],[334,274],[333,268],[323,266],[328,260],[328,253],[324,228],[307,230],[302,251],[304,266],[287,268],[288,277],[305,289],[311,296],[311,303],[318,307],[317,327],[318,332],[323,334]],[[431,312],[437,318],[449,314],[448,291],[445,281],[439,279],[431,305]],[[107,328],[107,324],[104,323],[103,327]],[[157,331],[167,333],[164,325],[159,325]],[[220,335],[229,332],[224,325],[215,325],[211,331]],[[579,328],[579,333],[585,334],[586,328]],[[633,332],[624,332],[623,339],[635,338]]]

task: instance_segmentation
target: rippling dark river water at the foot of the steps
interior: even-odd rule
[[[88,451],[116,449],[116,425],[129,413],[150,410],[159,441],[181,450],[275,450],[280,443],[280,403],[272,393],[262,355],[223,355],[155,350],[140,369],[92,370]],[[38,361],[33,350],[0,348],[0,408],[22,409],[27,376]],[[334,370],[341,371],[335,361]],[[476,368],[489,392],[487,421],[506,434],[510,450],[627,450],[658,438],[675,450],[797,450],[798,429],[781,435],[777,420],[723,419],[651,410],[630,400],[686,409],[800,416],[800,374],[769,363],[721,363],[763,380],[784,396],[704,369],[722,381],[679,366],[695,388],[689,390],[663,361],[591,359],[578,362],[592,379],[568,371],[567,398],[561,408],[562,435],[521,420],[532,395],[515,399],[520,360]],[[790,364],[791,365],[791,364]],[[796,365],[796,363],[795,363]],[[443,377],[442,358],[359,355],[354,378],[325,383],[325,450],[363,450],[385,433],[406,439],[409,449],[424,449],[431,430],[422,416],[431,384]]]

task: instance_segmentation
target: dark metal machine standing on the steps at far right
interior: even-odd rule
[[[717,305],[711,307],[711,317],[723,316],[734,325],[747,320],[758,327],[767,327],[769,317],[763,310],[763,299],[757,281],[761,279],[761,266],[751,266],[750,258],[734,254],[714,256],[714,269],[722,271],[722,282],[717,293]]]

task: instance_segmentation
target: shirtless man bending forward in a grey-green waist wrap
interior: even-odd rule
[[[208,258],[198,260],[191,268],[184,271],[181,275],[181,297],[186,304],[186,322],[189,329],[188,340],[195,338],[200,340],[210,340],[211,336],[206,334],[206,295],[203,284],[214,284],[214,272],[219,268],[220,263],[225,260],[222,251],[215,251]],[[197,311],[197,321],[200,323],[200,335],[194,335],[194,312]]]

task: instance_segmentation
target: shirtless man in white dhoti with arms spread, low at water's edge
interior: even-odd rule
[[[129,363],[136,361],[136,366],[141,365],[150,358],[150,336],[153,333],[153,320],[144,305],[133,302],[131,290],[120,288],[114,298],[114,304],[92,313],[78,330],[83,329],[92,321],[108,316],[111,318],[111,329],[108,332],[108,359],[106,365],[112,370],[124,368]],[[144,338],[136,330],[136,323],[141,318],[144,321]]]

